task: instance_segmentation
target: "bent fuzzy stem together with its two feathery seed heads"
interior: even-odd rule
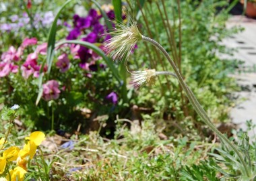
[[[108,40],[108,44],[105,46],[106,53],[109,54],[114,60],[119,59],[122,60],[123,58],[127,58],[129,54],[131,54],[131,50],[133,50],[135,44],[139,40],[143,40],[145,42],[149,42],[150,44],[153,44],[160,50],[170,65],[172,66],[174,73],[171,73],[172,76],[175,76],[179,83],[181,84],[181,87],[183,88],[183,91],[185,91],[187,98],[189,99],[191,105],[195,109],[195,111],[199,114],[201,119],[203,119],[204,123],[214,131],[222,141],[224,141],[226,144],[228,144],[233,151],[238,156],[238,159],[240,160],[241,164],[243,164],[245,168],[245,173],[247,174],[247,177],[251,177],[251,172],[249,172],[249,168],[247,164],[245,163],[245,160],[243,159],[243,156],[241,152],[238,151],[236,145],[234,145],[225,135],[220,133],[220,131],[215,127],[215,125],[212,123],[211,119],[207,116],[207,113],[205,110],[201,107],[200,103],[197,101],[195,95],[192,93],[192,91],[189,89],[185,81],[183,80],[179,69],[175,65],[172,58],[170,58],[170,55],[166,50],[155,40],[148,38],[146,36],[143,36],[140,34],[139,30],[137,29],[137,26],[135,23],[131,23],[130,26],[125,25],[118,25],[121,27],[121,29],[117,29],[117,31],[110,33],[110,35],[113,35],[114,37]],[[166,73],[166,72],[165,72]],[[158,74],[164,74],[159,73]],[[155,70],[146,70],[146,71],[137,71],[132,72],[132,82],[135,85],[135,88],[141,86],[144,83],[152,83],[154,81],[155,76],[157,75],[157,72]]]

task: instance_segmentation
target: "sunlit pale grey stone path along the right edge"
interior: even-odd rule
[[[238,127],[246,129],[246,121],[252,120],[256,125],[256,20],[243,16],[233,16],[227,27],[240,25],[245,31],[223,41],[229,48],[235,48],[233,58],[242,60],[244,64],[239,68],[241,72],[232,75],[238,80],[242,91],[234,93],[240,103],[236,104],[230,112],[230,118]],[[241,100],[244,99],[245,101]],[[256,133],[256,129],[255,129]],[[253,131],[249,132],[253,136]]]

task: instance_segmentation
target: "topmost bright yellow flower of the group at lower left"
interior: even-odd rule
[[[25,139],[28,140],[28,142],[24,145],[23,149],[20,150],[20,157],[24,158],[29,155],[30,159],[32,159],[34,154],[36,154],[36,147],[42,143],[44,137],[44,133],[40,131],[35,131],[31,133],[29,137],[26,137]]]

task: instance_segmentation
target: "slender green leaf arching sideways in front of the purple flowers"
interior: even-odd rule
[[[117,78],[117,80],[119,82],[122,82],[119,72],[117,70],[117,68],[115,68],[113,61],[110,60],[105,54],[104,52],[102,52],[102,50],[100,50],[100,48],[98,48],[96,45],[91,44],[89,42],[83,42],[83,41],[79,41],[79,40],[64,40],[62,42],[59,42],[58,44],[55,45],[55,47],[61,46],[62,44],[79,44],[82,46],[85,46],[87,48],[92,49],[96,54],[100,55],[103,60],[106,62],[108,68],[110,68],[110,70],[113,72],[113,75],[115,76],[115,78]]]

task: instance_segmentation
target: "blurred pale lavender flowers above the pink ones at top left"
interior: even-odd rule
[[[44,13],[35,13],[33,15],[33,26],[38,28],[49,27],[51,23],[53,23],[55,16],[53,15],[53,11],[48,11]],[[28,17],[27,13],[23,13],[21,17],[18,15],[11,15],[8,23],[0,24],[0,32],[9,33],[9,32],[20,32],[20,29],[26,28],[30,30],[32,27],[30,25],[30,17]],[[58,20],[58,25],[61,24],[61,20]]]

